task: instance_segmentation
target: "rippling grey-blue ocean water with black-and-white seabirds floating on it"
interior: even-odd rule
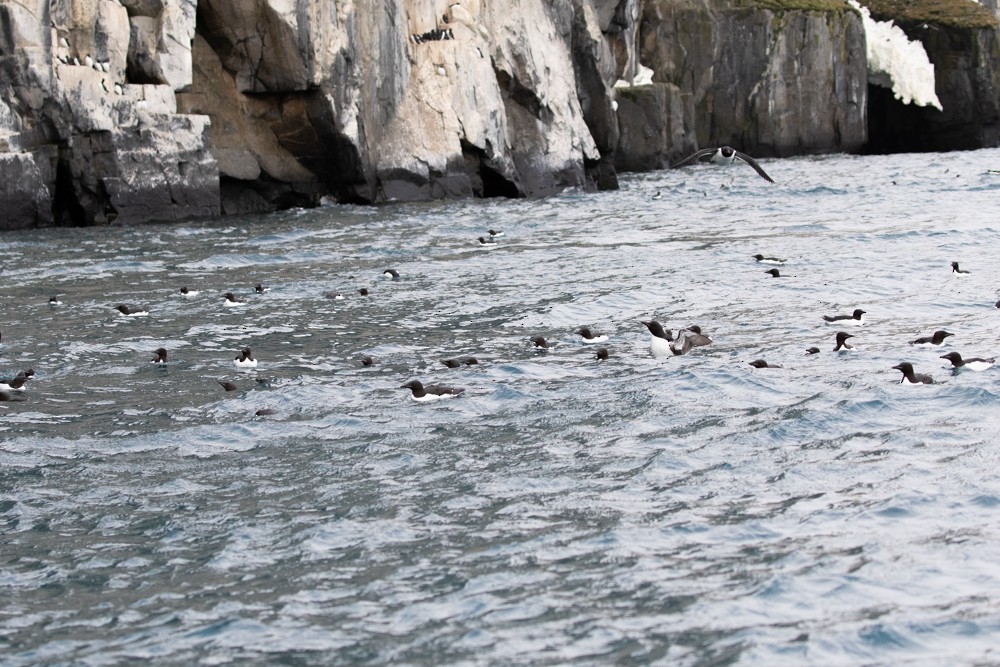
[[[0,664],[1000,664],[1000,151],[764,167],[0,236]]]

